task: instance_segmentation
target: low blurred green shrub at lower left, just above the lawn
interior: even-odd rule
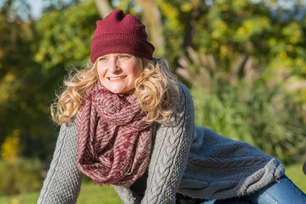
[[[0,160],[0,195],[38,191],[43,181],[41,172],[39,160]]]

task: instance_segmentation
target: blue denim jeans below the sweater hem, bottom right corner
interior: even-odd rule
[[[305,179],[306,177],[302,178]],[[250,195],[239,198],[230,198],[224,200],[207,200],[200,204],[306,204],[306,195],[297,188],[286,175],[282,176],[279,181]]]

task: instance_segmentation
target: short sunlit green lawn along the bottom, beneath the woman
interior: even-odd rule
[[[306,193],[306,175],[302,172],[303,164],[294,164],[286,168],[286,175],[293,183]],[[37,202],[39,192],[0,196],[1,204],[32,204]],[[92,182],[82,184],[77,204],[119,204],[120,198],[112,186],[99,187]]]

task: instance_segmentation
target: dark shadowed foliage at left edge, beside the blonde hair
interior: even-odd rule
[[[50,157],[56,131],[47,111],[65,70],[62,67],[43,75],[31,51],[36,42],[33,22],[13,21],[9,16],[0,13],[0,33],[6,33],[0,40],[0,143],[17,130],[22,156]]]

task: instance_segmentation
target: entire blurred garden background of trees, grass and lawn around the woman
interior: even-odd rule
[[[59,132],[49,106],[115,9],[146,25],[197,125],[277,157],[306,192],[306,1],[1,0],[0,203],[36,202]],[[78,203],[120,202],[112,187],[82,185]]]

